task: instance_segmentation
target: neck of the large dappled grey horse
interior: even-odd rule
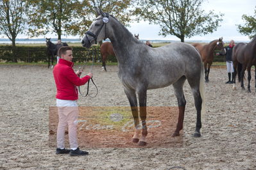
[[[113,49],[115,52],[115,56],[119,64],[126,63],[133,53],[133,46],[139,45],[140,43],[135,40],[132,33],[128,31],[124,26],[121,25],[120,22],[113,18],[113,22],[115,24],[112,25],[112,32],[109,35],[109,39],[112,42]]]

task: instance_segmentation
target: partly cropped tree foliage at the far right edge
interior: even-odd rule
[[[245,26],[241,26],[241,24],[237,25],[238,31],[242,35],[247,35],[252,39],[256,36],[256,9],[254,10],[254,16],[243,15],[242,19],[245,20],[246,23]]]

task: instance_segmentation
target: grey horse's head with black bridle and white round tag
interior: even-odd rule
[[[99,17],[92,22],[89,30],[83,36],[83,40],[81,41],[83,47],[90,48],[93,43],[101,42],[108,38],[107,23],[109,21],[109,15],[99,8],[97,8],[96,12]]]

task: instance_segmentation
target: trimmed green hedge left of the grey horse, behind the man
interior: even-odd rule
[[[90,49],[83,47],[72,47],[74,62],[85,63],[92,61],[101,61],[101,54],[98,46],[93,46]],[[56,61],[56,58],[54,58]],[[16,46],[12,49],[11,45],[0,45],[0,61],[1,62],[26,62],[26,63],[37,63],[47,62],[47,48],[44,46]],[[114,56],[109,56],[107,61],[117,62]]]

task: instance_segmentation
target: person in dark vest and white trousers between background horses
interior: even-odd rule
[[[225,47],[225,53],[217,53],[217,56],[225,56],[226,55],[226,70],[228,72],[228,81],[226,84],[232,84],[235,80],[235,72],[234,72],[234,65],[232,62],[232,50],[234,49],[235,42],[234,40],[230,40],[228,46]],[[231,81],[231,74],[232,74],[232,81]]]

